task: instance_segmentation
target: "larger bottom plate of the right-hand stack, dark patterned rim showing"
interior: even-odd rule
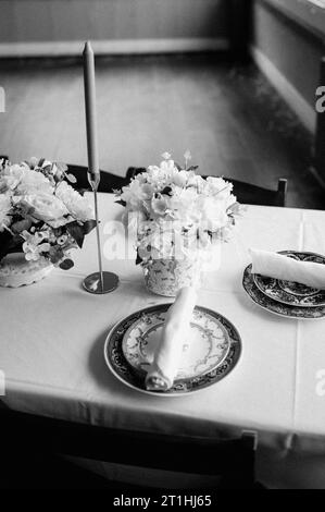
[[[288,318],[297,319],[317,319],[325,317],[325,306],[313,306],[313,307],[299,307],[299,306],[289,306],[288,304],[283,304],[278,301],[274,301],[265,295],[257,287],[252,273],[252,265],[249,265],[243,272],[242,285],[248,295],[253,300],[255,304],[267,309],[275,315],[280,315]]]

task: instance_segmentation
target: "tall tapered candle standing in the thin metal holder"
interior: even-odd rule
[[[89,41],[84,49],[84,86],[87,126],[88,170],[92,179],[99,174],[97,115],[96,115],[96,83],[95,58]]]

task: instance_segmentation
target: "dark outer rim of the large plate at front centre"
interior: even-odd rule
[[[145,394],[148,394],[148,395],[151,395],[151,397],[159,397],[159,398],[176,398],[176,397],[186,397],[186,395],[189,395],[189,394],[192,394],[192,393],[198,393],[200,391],[204,391],[205,389],[210,388],[210,386],[212,383],[216,383],[216,382],[211,382],[210,385],[205,385],[205,386],[202,386],[201,388],[197,388],[197,389],[193,389],[193,390],[190,390],[190,391],[178,391],[178,392],[170,392],[170,393],[164,393],[164,392],[158,392],[158,391],[148,391],[147,389],[142,389],[142,388],[139,388],[135,385],[133,385],[132,382],[123,379],[121,377],[121,375],[118,375],[118,373],[115,370],[115,368],[113,367],[109,356],[108,356],[108,345],[109,345],[109,342],[110,342],[110,338],[111,338],[111,334],[118,328],[120,325],[122,325],[124,321],[126,321],[127,319],[129,319],[130,317],[133,317],[135,314],[141,314],[143,312],[148,312],[148,310],[151,310],[151,309],[155,309],[157,307],[165,307],[165,306],[171,306],[173,304],[173,302],[171,303],[161,303],[161,304],[155,304],[153,306],[147,306],[145,308],[141,308],[141,309],[138,309],[138,310],[135,310],[133,312],[132,314],[127,315],[126,317],[122,318],[121,320],[118,320],[108,332],[107,334],[107,338],[105,338],[105,341],[104,341],[104,345],[103,345],[103,352],[104,352],[104,361],[105,361],[105,364],[108,366],[108,368],[111,370],[111,373],[114,375],[115,378],[117,378],[124,386],[128,387],[129,389],[133,389],[135,391],[138,391],[140,393],[145,393]],[[234,329],[234,332],[236,334],[236,341],[237,341],[237,352],[236,352],[236,358],[235,358],[235,363],[234,365],[232,366],[232,368],[226,373],[226,375],[224,377],[227,377],[227,375],[229,373],[233,371],[233,369],[237,366],[240,357],[241,357],[241,353],[242,353],[242,340],[241,340],[241,336],[239,334],[239,331],[238,329],[234,326],[234,324],[228,320],[227,317],[225,317],[224,315],[222,315],[221,313],[217,313],[213,309],[210,309],[208,307],[204,307],[204,306],[199,306],[199,305],[196,305],[197,308],[199,309],[203,309],[204,312],[207,313],[210,313],[210,314],[216,314],[216,315],[220,315],[222,316],[230,326],[232,328]],[[230,339],[230,348],[232,348],[232,337],[229,337]],[[227,355],[229,354],[229,351],[227,353]],[[128,363],[127,363],[128,364]],[[222,380],[222,379],[220,379]]]

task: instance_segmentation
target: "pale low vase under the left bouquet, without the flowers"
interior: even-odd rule
[[[53,265],[40,257],[37,261],[27,261],[24,253],[7,255],[0,264],[0,287],[18,288],[33,284],[47,277]]]

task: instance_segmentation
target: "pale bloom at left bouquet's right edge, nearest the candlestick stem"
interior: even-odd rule
[[[68,214],[76,220],[86,222],[93,219],[93,208],[86,197],[83,197],[65,181],[62,181],[55,191],[55,196],[65,205]]]

